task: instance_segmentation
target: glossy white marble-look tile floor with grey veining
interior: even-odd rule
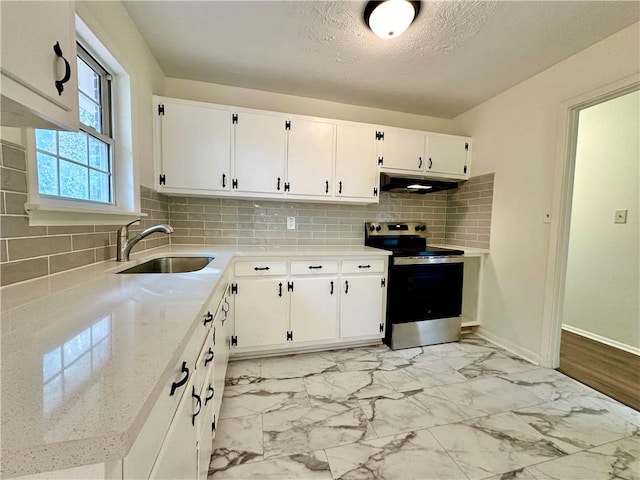
[[[640,413],[467,335],[232,362],[213,447],[213,480],[640,480]]]

